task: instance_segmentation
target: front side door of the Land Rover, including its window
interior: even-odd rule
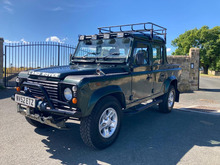
[[[133,51],[132,101],[139,101],[152,95],[153,75],[149,62],[149,48],[148,44],[137,42]],[[138,53],[144,56],[141,64],[136,61]]]

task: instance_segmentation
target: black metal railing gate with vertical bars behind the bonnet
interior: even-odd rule
[[[68,65],[74,51],[74,46],[54,42],[7,44],[3,60],[4,85],[15,86],[16,76],[21,71]]]

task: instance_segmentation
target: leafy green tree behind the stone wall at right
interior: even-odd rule
[[[192,47],[200,48],[200,64],[204,73],[207,74],[208,69],[220,71],[220,26],[188,30],[174,39],[172,45],[177,47],[173,55],[187,54]]]

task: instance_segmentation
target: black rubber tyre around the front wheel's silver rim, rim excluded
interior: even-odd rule
[[[114,133],[108,137],[104,138],[100,133],[100,120],[102,114],[106,112],[107,109],[113,108],[117,113],[117,126]],[[101,99],[92,110],[92,113],[88,117],[81,119],[80,123],[80,134],[83,142],[94,149],[104,149],[110,146],[118,137],[120,127],[121,127],[121,104],[113,96],[107,96]]]

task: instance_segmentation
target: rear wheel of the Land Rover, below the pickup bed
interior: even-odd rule
[[[173,95],[173,98],[172,98],[172,104],[170,103],[170,96]],[[161,102],[159,104],[159,111],[160,112],[163,112],[163,113],[169,113],[172,111],[173,109],[173,106],[174,106],[174,102],[175,102],[175,98],[176,98],[176,90],[174,88],[173,85],[170,85],[169,89],[168,89],[168,92],[165,93],[161,99],[163,100],[163,102]]]

